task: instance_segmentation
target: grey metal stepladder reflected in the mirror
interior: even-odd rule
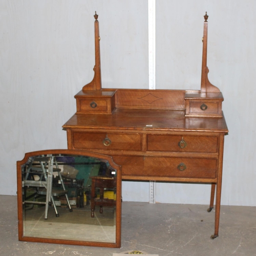
[[[53,168],[53,165],[55,164],[56,168]],[[57,172],[57,177],[59,178],[59,182],[62,185],[62,189],[54,189],[52,187],[52,180],[53,180],[53,172]],[[57,207],[54,202],[53,197],[59,197],[59,196],[66,196],[68,206],[70,211],[72,211],[69,198],[68,198],[68,190],[65,189],[65,185],[63,183],[60,169],[58,168],[58,164],[55,160],[55,157],[48,156],[48,157],[34,157],[31,159],[30,163],[25,166],[24,169],[24,181],[23,181],[23,187],[24,187],[24,203],[25,204],[45,204],[45,219],[48,217],[48,208],[49,204],[53,204],[53,207],[55,209],[56,217],[59,217]],[[27,196],[27,190],[28,188],[34,188],[33,194],[30,196]],[[38,195],[44,195],[46,196],[44,202],[36,201],[38,199]],[[33,198],[33,201],[29,201],[28,199]]]

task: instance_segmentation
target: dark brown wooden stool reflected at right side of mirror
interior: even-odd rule
[[[114,199],[104,198],[104,188],[113,189],[116,188],[116,177],[108,176],[93,176],[92,179],[92,194],[91,194],[91,217],[94,218],[95,205],[99,205],[99,212],[102,214],[102,206],[115,206],[116,201]],[[95,198],[95,190],[99,188],[100,196]]]

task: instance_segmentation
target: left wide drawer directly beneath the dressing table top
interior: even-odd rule
[[[140,151],[141,135],[74,132],[73,146],[76,149]]]

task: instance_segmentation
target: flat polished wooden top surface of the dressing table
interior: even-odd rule
[[[185,117],[184,110],[116,109],[112,115],[73,115],[64,128],[227,133],[225,118]]]

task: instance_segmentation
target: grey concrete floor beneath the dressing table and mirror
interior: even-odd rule
[[[256,255],[256,207],[222,206],[219,237],[206,205],[122,203],[121,248],[18,241],[15,196],[0,196],[0,255],[112,256],[131,250],[167,255]]]

